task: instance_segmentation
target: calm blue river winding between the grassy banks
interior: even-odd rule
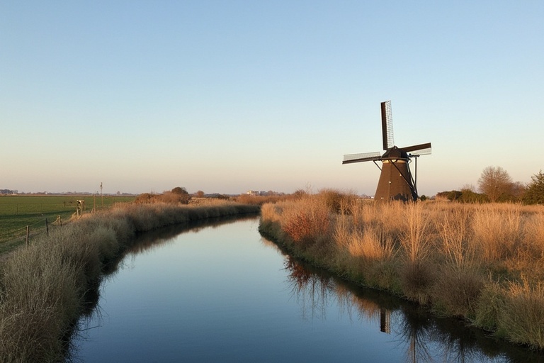
[[[147,235],[105,277],[74,362],[539,362],[284,255],[258,218]]]

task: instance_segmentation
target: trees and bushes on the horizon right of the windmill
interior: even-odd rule
[[[436,196],[462,203],[544,204],[544,174],[540,170],[531,177],[531,182],[523,184],[513,181],[502,167],[486,167],[478,179],[477,189],[465,185],[460,190],[441,191]]]

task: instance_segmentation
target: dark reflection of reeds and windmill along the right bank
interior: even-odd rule
[[[406,362],[544,362],[540,352],[498,342],[450,318],[431,318],[423,308],[389,294],[362,289],[285,255],[292,296],[305,318],[326,318],[336,303],[350,319],[375,324],[405,347]]]

